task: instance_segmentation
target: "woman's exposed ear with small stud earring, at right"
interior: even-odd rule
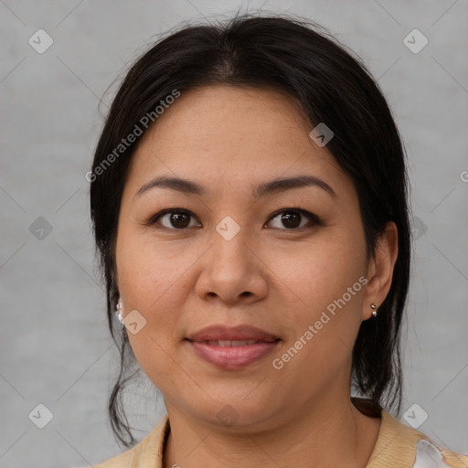
[[[375,303],[378,309],[380,304],[385,301],[390,290],[398,254],[397,225],[393,221],[388,221],[384,232],[378,238],[374,259],[369,261],[367,265],[367,286],[362,320],[371,317],[371,303]]]

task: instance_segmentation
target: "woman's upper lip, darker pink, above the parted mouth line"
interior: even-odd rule
[[[211,325],[187,336],[190,341],[218,341],[218,340],[257,340],[273,342],[278,336],[271,335],[260,328],[242,324],[238,326]]]

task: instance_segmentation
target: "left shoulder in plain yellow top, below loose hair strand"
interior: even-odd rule
[[[120,455],[95,465],[94,468],[161,468],[169,428],[169,420],[165,415],[143,441]]]

